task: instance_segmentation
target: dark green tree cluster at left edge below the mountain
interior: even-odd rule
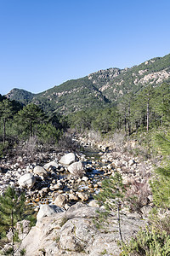
[[[54,114],[48,117],[33,103],[23,107],[4,97],[0,102],[0,123],[0,157],[15,143],[24,143],[33,137],[37,143],[56,144],[63,130],[59,116]]]

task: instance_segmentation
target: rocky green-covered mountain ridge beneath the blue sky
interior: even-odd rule
[[[123,95],[138,93],[148,84],[170,82],[170,55],[153,58],[130,68],[108,68],[72,79],[38,94],[13,89],[10,100],[34,102],[47,112],[72,113],[82,108],[99,108],[116,104]]]

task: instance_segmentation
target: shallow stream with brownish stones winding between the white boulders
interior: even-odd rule
[[[56,171],[54,179],[62,183],[62,189],[49,191],[48,195],[30,200],[29,203],[33,204],[34,208],[37,208],[38,210],[40,204],[44,203],[54,204],[54,197],[55,195],[59,194],[66,195],[68,198],[71,193],[73,195],[76,195],[77,200],[68,200],[69,207],[75,204],[77,201],[86,201],[88,203],[89,201],[94,199],[94,195],[98,194],[99,189],[101,188],[101,181],[106,176],[104,166],[108,165],[108,162],[106,164],[101,162],[100,154],[102,153],[99,153],[99,150],[84,148],[84,150],[82,150],[80,154],[82,154],[82,163],[86,170],[84,177],[76,179],[74,177],[71,177],[71,173],[69,172]],[[49,185],[48,189],[50,190]],[[83,199],[84,194],[85,196]]]

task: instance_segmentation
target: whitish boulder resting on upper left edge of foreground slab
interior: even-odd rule
[[[60,207],[56,206],[41,205],[39,212],[37,212],[37,220],[39,220],[40,218],[54,215],[57,212],[63,212],[63,210]]]

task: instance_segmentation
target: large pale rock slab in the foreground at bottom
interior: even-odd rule
[[[120,255],[116,213],[113,212],[105,228],[98,230],[94,224],[97,209],[78,202],[65,212],[37,218],[36,226],[21,244],[26,249],[26,256],[98,256],[103,252]],[[122,215],[123,238],[134,236],[145,223],[144,219],[133,215]]]

